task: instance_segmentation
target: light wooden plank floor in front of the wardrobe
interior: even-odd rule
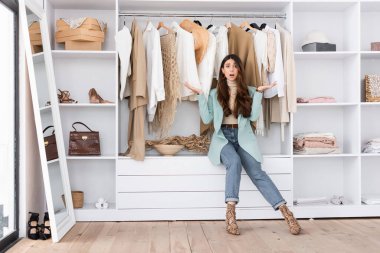
[[[283,220],[239,221],[241,235],[233,236],[223,221],[80,222],[60,243],[23,239],[7,252],[380,252],[380,219],[300,224],[294,236]]]

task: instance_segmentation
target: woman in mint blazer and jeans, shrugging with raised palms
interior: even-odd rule
[[[208,98],[201,89],[186,83],[198,94],[199,110],[205,124],[214,121],[209,159],[215,165],[226,166],[225,202],[226,224],[230,234],[239,235],[235,205],[239,202],[241,169],[244,167],[252,182],[274,210],[280,210],[292,234],[299,234],[301,227],[286,206],[277,187],[261,169],[262,157],[251,121],[256,121],[261,110],[262,92],[276,84],[248,87],[244,81],[242,63],[237,55],[227,55],[221,64],[216,89]]]

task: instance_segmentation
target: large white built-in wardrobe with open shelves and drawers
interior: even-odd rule
[[[281,22],[293,34],[298,97],[333,96],[337,103],[300,104],[285,127],[272,124],[269,136],[258,137],[264,155],[263,168],[279,186],[288,204],[302,197],[342,195],[348,205],[293,206],[300,218],[378,216],[380,206],[361,204],[363,194],[380,194],[380,155],[362,154],[369,138],[380,137],[380,103],[365,103],[363,79],[380,74],[380,53],[371,52],[370,42],[380,41],[380,1],[62,1],[47,0],[50,31],[61,17],[91,16],[107,22],[103,51],[64,51],[55,44],[53,59],[57,88],[69,90],[78,104],[61,104],[65,145],[71,124],[81,121],[99,131],[102,155],[68,156],[71,188],[85,192],[85,207],[76,209],[77,220],[174,220],[223,219],[223,167],[210,164],[203,155],[182,152],[161,157],[147,152],[144,162],[118,156],[127,147],[128,106],[118,101],[118,56],[114,35],[133,18],[119,18],[119,12],[286,14],[285,20],[255,20],[274,25]],[[227,15],[227,14],[226,14]],[[228,15],[227,15],[228,16]],[[170,23],[181,18],[136,17],[143,29],[146,21]],[[211,18],[197,18],[208,24]],[[229,18],[228,18],[229,20]],[[215,25],[226,18],[213,18]],[[244,19],[234,19],[240,24]],[[378,22],[377,22],[378,23]],[[367,29],[370,27],[371,29]],[[336,52],[302,52],[301,45],[312,30],[324,32]],[[354,31],[354,32],[353,32]],[[51,36],[52,38],[54,36]],[[89,104],[88,90],[113,104]],[[46,101],[41,101],[41,107]],[[44,110],[44,108],[41,108]],[[171,135],[199,132],[196,103],[178,105]],[[146,128],[147,130],[147,128]],[[293,155],[292,136],[300,132],[333,132],[341,154]],[[147,135],[147,139],[154,138]],[[238,218],[280,218],[263,201],[257,189],[243,175]],[[105,198],[109,209],[98,210],[94,202]]]

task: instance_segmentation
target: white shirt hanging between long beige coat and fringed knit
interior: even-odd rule
[[[147,63],[148,121],[156,114],[157,102],[165,100],[164,71],[162,67],[160,33],[151,22],[143,33]]]

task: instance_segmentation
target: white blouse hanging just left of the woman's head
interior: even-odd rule
[[[215,64],[215,52],[216,52],[216,38],[215,36],[208,32],[208,44],[206,53],[202,61],[198,65],[198,75],[199,82],[202,87],[202,91],[208,98],[208,94],[212,85],[212,77],[214,74],[214,64]]]

